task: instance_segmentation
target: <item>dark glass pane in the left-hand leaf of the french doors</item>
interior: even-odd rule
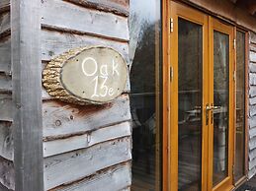
[[[178,26],[179,190],[201,190],[203,27]]]

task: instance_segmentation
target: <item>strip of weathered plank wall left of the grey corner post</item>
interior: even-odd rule
[[[0,190],[14,190],[10,1],[0,1]]]

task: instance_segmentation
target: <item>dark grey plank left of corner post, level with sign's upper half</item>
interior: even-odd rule
[[[0,40],[0,72],[11,72],[11,36]]]

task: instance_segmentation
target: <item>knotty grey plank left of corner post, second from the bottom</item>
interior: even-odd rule
[[[13,160],[13,149],[12,123],[0,121],[0,156]]]

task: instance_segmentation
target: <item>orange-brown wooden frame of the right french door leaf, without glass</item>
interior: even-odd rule
[[[210,146],[209,146],[209,180],[208,180],[208,189],[213,191],[217,190],[230,190],[232,189],[233,184],[233,158],[234,158],[234,113],[233,108],[235,108],[235,98],[234,98],[234,32],[235,28],[227,24],[223,24],[217,19],[209,16],[210,25],[209,25],[209,40],[210,40],[210,68],[213,70],[213,31],[222,32],[229,35],[229,104],[228,104],[228,170],[227,177],[218,183],[216,186],[213,185],[213,124],[211,125],[210,130]],[[211,85],[213,87],[213,72],[210,74]],[[213,103],[213,93],[210,93],[210,102]]]

